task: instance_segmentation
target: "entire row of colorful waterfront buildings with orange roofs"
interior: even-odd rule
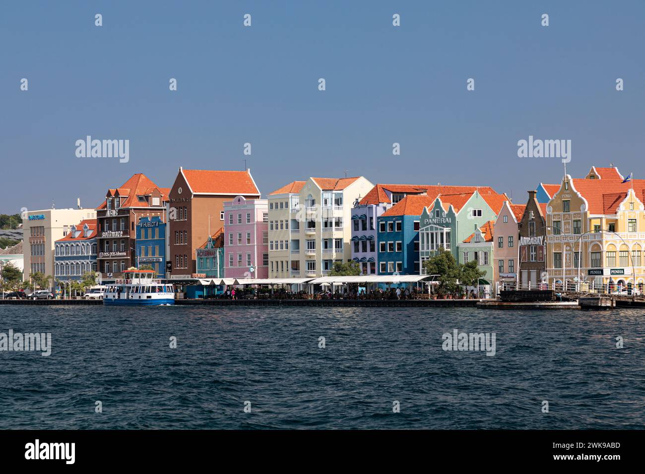
[[[184,170],[170,188],[137,173],[95,209],[28,212],[25,273],[57,280],[132,266],[190,284],[306,279],[334,262],[363,275],[419,275],[440,248],[476,261],[481,290],[541,282],[637,285],[645,267],[645,180],[615,167],[539,183],[515,204],[490,186],[292,181],[261,199],[250,170]],[[28,277],[28,275],[25,275]]]

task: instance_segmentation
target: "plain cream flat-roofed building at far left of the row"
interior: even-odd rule
[[[70,231],[72,225],[95,219],[94,209],[45,209],[23,214],[23,262],[25,280],[41,272],[54,277],[55,242]],[[51,289],[51,286],[50,286]]]

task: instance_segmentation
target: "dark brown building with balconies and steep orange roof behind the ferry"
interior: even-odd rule
[[[137,173],[123,186],[110,189],[97,208],[97,261],[102,280],[121,277],[136,265],[137,222],[141,217],[161,217],[166,222],[168,188],[159,188],[146,175]]]

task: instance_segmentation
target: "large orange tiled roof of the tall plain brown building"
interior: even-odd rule
[[[259,195],[248,171],[182,170],[194,193]]]

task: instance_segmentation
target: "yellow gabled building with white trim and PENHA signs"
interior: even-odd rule
[[[547,206],[550,283],[642,291],[645,180],[622,179],[616,168],[591,168],[585,179],[564,176]]]

